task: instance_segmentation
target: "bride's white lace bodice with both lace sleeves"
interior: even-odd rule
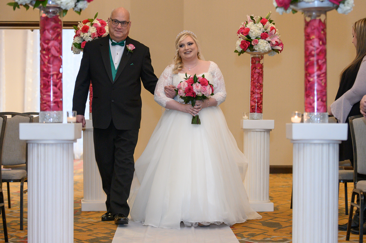
[[[183,81],[185,77],[184,73],[173,74],[173,68],[174,64],[171,64],[165,68],[164,72],[161,73],[155,87],[154,100],[164,108],[169,101],[173,100],[165,95],[164,86],[174,85],[175,87],[177,87],[177,85],[181,81]],[[203,74],[205,75],[205,78],[209,80],[210,84],[213,85],[214,95],[212,95],[211,97],[216,100],[217,106],[219,106],[226,99],[226,90],[223,74],[221,73],[217,64],[212,61],[210,61],[208,72],[201,73],[197,76],[201,76]],[[183,100],[179,98],[178,95],[174,97],[174,100],[178,102],[183,102]]]

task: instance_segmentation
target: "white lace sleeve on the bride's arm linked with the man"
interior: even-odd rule
[[[173,84],[173,73],[172,73],[173,67],[171,66],[172,65],[166,67],[164,69],[164,72],[161,73],[154,92],[154,100],[164,108],[169,101],[173,100],[171,98],[168,98],[164,92],[164,86],[169,86]]]

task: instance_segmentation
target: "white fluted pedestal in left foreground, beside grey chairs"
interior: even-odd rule
[[[81,124],[21,123],[28,143],[28,242],[74,242],[74,148]]]

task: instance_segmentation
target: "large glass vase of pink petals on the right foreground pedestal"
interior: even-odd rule
[[[327,123],[326,11],[304,11],[305,123]]]

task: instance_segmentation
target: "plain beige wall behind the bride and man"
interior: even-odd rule
[[[265,57],[264,119],[274,119],[275,129],[270,133],[270,164],[291,165],[292,144],[285,138],[285,124],[290,122],[291,112],[303,111],[303,15],[297,13],[279,15],[272,0],[222,1],[222,0],[94,0],[81,16],[69,12],[66,21],[93,17],[107,19],[112,8],[125,6],[131,12],[130,37],[149,46],[155,74],[160,76],[171,62],[176,35],[182,30],[193,31],[201,42],[206,60],[216,62],[225,78],[227,99],[220,106],[229,129],[240,150],[243,148],[243,132],[240,118],[249,111],[249,55],[238,57],[235,53],[236,31],[246,19],[246,14],[265,16],[272,11],[284,51],[280,55]],[[356,7],[348,15],[331,11],[327,15],[328,38],[328,104],[336,95],[339,73],[355,57],[351,26],[365,18],[366,1],[355,0]],[[15,11],[0,8],[0,21],[38,19],[38,11]],[[20,75],[19,75],[20,76]],[[19,84],[20,86],[21,84]],[[135,151],[137,159],[161,116],[161,107],[146,90],[142,92],[142,123]],[[22,105],[22,103],[20,103]],[[20,106],[19,106],[20,107]]]

